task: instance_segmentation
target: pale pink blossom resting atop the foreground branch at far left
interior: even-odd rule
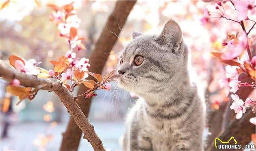
[[[25,64],[23,64],[22,61],[16,60],[14,62],[16,70],[19,70],[21,72],[25,72],[26,74],[33,74],[37,75],[40,73],[39,70],[37,70],[36,65],[40,62],[36,62],[35,59],[30,59],[28,61],[24,60]]]

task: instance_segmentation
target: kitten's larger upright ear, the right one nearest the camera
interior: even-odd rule
[[[178,23],[173,19],[169,19],[156,40],[160,45],[172,46],[174,49],[178,50],[182,42],[182,32]]]

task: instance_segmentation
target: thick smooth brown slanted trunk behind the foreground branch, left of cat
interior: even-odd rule
[[[117,35],[121,32],[124,24],[126,23],[127,17],[132,10],[132,7],[136,1],[117,1],[115,8],[111,15],[108,17],[105,27],[95,44],[95,49],[90,57],[91,67],[90,72],[100,74],[105,66],[108,59],[109,52],[117,41]],[[78,89],[78,95],[83,94],[86,91],[86,87],[81,85]],[[91,98],[86,99],[80,97],[78,100],[82,112],[88,117]],[[81,130],[76,125],[76,122],[72,117],[69,118],[66,132],[63,133],[63,140],[61,143],[61,151],[76,151],[79,146],[81,138]]]

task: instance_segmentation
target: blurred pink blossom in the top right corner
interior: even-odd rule
[[[247,18],[247,13],[250,8],[253,8],[255,0],[232,0],[234,7],[238,11],[238,20],[241,21]]]

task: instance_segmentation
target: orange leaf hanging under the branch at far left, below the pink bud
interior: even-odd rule
[[[6,87],[6,91],[14,96],[19,96],[20,100],[27,98],[30,95],[31,87],[15,87],[9,85]]]

